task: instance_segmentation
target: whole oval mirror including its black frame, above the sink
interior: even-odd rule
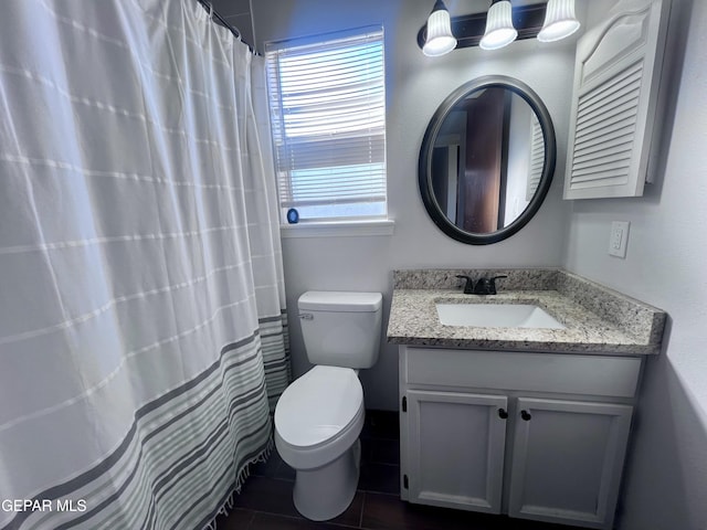
[[[538,95],[511,77],[479,77],[452,93],[428,126],[422,201],[451,237],[495,243],[536,214],[555,162],[555,128]]]

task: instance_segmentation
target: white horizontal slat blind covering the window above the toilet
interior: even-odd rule
[[[387,216],[383,31],[267,46],[281,219]]]

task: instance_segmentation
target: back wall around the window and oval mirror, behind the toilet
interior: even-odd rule
[[[394,268],[561,265],[569,208],[561,201],[563,163],[558,163],[556,181],[536,218],[510,239],[486,246],[457,243],[436,229],[420,199],[416,165],[422,136],[437,106],[460,85],[487,74],[514,76],[538,93],[558,131],[558,160],[563,160],[573,40],[556,44],[530,40],[496,52],[475,47],[443,57],[425,57],[416,46],[416,33],[433,3],[432,0],[252,2],[260,50],[264,49],[264,41],[369,24],[383,24],[386,31],[388,190],[394,235],[284,241],[295,375],[309,368],[295,312],[296,299],[305,290],[382,292],[387,314]],[[488,8],[486,0],[452,0],[446,4],[453,14]],[[397,410],[397,348],[383,343],[380,361],[361,379],[367,406]]]

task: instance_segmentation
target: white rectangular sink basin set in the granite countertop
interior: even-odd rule
[[[440,321],[445,326],[481,328],[563,329],[550,315],[531,304],[444,304],[437,303]]]

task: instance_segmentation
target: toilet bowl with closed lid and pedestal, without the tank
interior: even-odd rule
[[[275,446],[296,473],[293,500],[314,521],[344,512],[356,495],[363,391],[355,370],[314,367],[275,410]]]

